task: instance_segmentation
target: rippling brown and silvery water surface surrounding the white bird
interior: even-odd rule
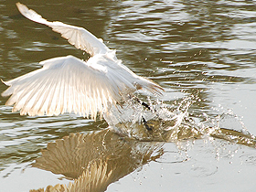
[[[87,59],[88,55],[73,48],[50,28],[21,16],[15,3],[0,2],[1,79],[11,80],[39,69],[38,62],[44,59],[69,54]],[[91,144],[100,147],[99,154],[105,149],[103,146],[116,146],[101,156],[116,159],[113,161],[116,166],[102,165],[109,167],[107,173],[112,170],[109,175],[112,179],[106,182],[107,186],[110,184],[108,191],[252,191],[256,187],[253,136],[252,144],[238,139],[248,133],[256,134],[253,1],[90,0],[73,1],[70,5],[63,0],[54,3],[27,0],[21,3],[48,20],[85,27],[104,39],[109,48],[117,49],[117,57],[123,59],[123,64],[165,88],[163,97],[158,99],[168,107],[175,108],[189,98],[192,104],[187,112],[187,126],[191,129],[186,130],[194,126],[201,131],[206,127],[216,131],[215,128],[221,127],[230,136],[202,131],[199,137],[176,137],[170,143],[126,141],[107,132],[108,124],[104,121],[93,122],[75,114],[20,116],[5,106],[6,98],[1,98],[1,191],[69,185],[69,179],[78,175],[65,175],[66,170],[55,171],[46,164],[35,164],[36,159],[44,158],[41,149],[46,150],[46,155],[51,150],[70,154],[67,149],[73,143],[66,141],[78,144],[74,135],[88,139],[96,131],[97,136],[107,133],[112,141],[108,143],[109,140],[100,137],[105,143],[99,144],[91,140]],[[0,84],[0,91],[5,89]],[[61,140],[64,136],[69,139]],[[60,143],[66,144],[65,150]],[[79,149],[88,152],[90,147],[83,144],[80,141]],[[81,159],[83,153],[78,150],[74,159]],[[125,161],[122,156],[129,164],[122,164]],[[85,160],[81,162],[87,164]],[[61,165],[65,167],[64,163]],[[80,167],[79,163],[76,165]],[[123,172],[120,167],[125,167]],[[80,173],[73,169],[69,172]]]

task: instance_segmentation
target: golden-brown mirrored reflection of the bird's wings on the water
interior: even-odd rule
[[[162,145],[124,138],[109,129],[71,133],[49,143],[33,166],[74,179],[69,186],[48,186],[46,191],[105,191],[112,182],[161,156]]]

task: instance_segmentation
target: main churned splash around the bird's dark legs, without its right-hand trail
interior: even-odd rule
[[[166,141],[176,133],[187,116],[192,101],[185,98],[180,102],[166,104],[147,98],[148,109],[137,98],[112,107],[104,114],[104,119],[118,133],[139,140]]]

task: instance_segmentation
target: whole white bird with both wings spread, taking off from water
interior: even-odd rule
[[[16,3],[23,16],[51,27],[68,39],[76,48],[88,52],[87,61],[73,56],[41,61],[43,68],[14,80],[3,81],[10,86],[2,96],[10,96],[6,105],[14,105],[13,112],[21,115],[59,115],[75,112],[95,120],[97,113],[125,101],[134,91],[144,89],[161,94],[162,87],[126,68],[101,39],[82,27],[58,21],[49,22],[26,5]]]

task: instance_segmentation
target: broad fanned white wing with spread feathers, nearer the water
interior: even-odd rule
[[[75,112],[87,117],[91,113],[96,119],[97,111],[102,113],[122,99],[122,82],[110,80],[105,67],[92,67],[73,56],[41,63],[42,69],[4,81],[10,87],[2,95],[12,95],[6,105],[15,104],[14,112],[31,116]]]

